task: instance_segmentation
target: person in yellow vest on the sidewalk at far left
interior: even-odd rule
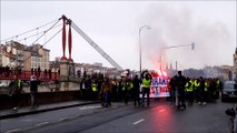
[[[18,79],[17,75],[13,75],[13,81],[9,84],[10,92],[9,94],[12,96],[13,100],[13,111],[17,111],[19,108],[19,101],[20,101],[20,95],[22,91],[22,81]]]

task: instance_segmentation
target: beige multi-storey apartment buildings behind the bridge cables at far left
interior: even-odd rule
[[[21,68],[24,71],[31,69],[49,69],[50,50],[40,44],[31,47],[23,45],[16,41],[9,41],[1,44],[1,63],[2,66]]]

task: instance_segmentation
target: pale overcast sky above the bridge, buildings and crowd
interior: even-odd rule
[[[161,69],[170,65],[175,69],[177,64],[178,70],[233,65],[233,54],[237,45],[236,12],[236,0],[1,0],[0,40],[1,43],[14,40],[27,45],[34,42],[45,44],[61,29],[61,21],[40,40],[36,41],[37,38],[65,14],[122,69],[139,70],[139,47],[142,69],[156,70],[160,69],[160,64]],[[43,27],[45,29],[39,28],[49,22],[52,23]],[[142,28],[144,25],[150,29]],[[36,30],[37,28],[39,29]],[[32,32],[23,34],[24,37],[19,35],[29,30]],[[28,39],[31,34],[37,35]],[[192,42],[194,50],[190,47]],[[43,45],[50,50],[50,60],[62,57],[61,43],[59,33]],[[71,54],[77,63],[100,62],[105,66],[111,66],[73,29]],[[68,47],[66,55],[68,57]]]

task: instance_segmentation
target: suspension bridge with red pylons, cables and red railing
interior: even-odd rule
[[[55,22],[55,21],[52,21]],[[50,24],[52,22],[49,22]],[[8,66],[0,66],[0,80],[12,80],[13,75],[17,75],[19,79],[21,80],[30,80],[30,76],[32,74],[34,74],[38,80],[40,81],[46,81],[46,82],[50,82],[50,81],[57,81],[57,80],[67,80],[69,79],[69,72],[68,72],[68,68],[72,66],[73,68],[73,60],[71,57],[71,50],[72,50],[72,33],[71,33],[71,28],[79,34],[81,35],[99,54],[101,54],[113,68],[116,68],[117,70],[122,70],[122,68],[111,58],[109,57],[96,42],[93,42],[71,19],[68,19],[66,16],[62,16],[61,18],[57,19],[57,21],[46,31],[43,31],[43,33],[37,38],[32,44],[34,44],[40,38],[42,38],[47,32],[49,32],[50,30],[55,29],[59,22],[61,22],[62,28],[55,34],[52,35],[49,40],[46,41],[46,43],[43,45],[46,45],[51,39],[53,39],[58,33],[61,32],[61,37],[62,37],[62,57],[60,59],[60,68],[58,72],[51,72],[51,71],[41,71],[41,70],[22,70],[20,66],[16,66],[14,69],[9,69]],[[45,27],[49,23],[46,23],[41,27]],[[37,30],[40,29],[41,27],[36,28]],[[66,33],[66,27],[68,27],[68,33]],[[28,33],[32,30],[26,31],[21,34],[14,35],[14,37],[20,37],[24,33]],[[68,40],[66,34],[68,34]],[[30,35],[31,37],[31,35]],[[7,39],[8,40],[8,39]],[[26,40],[26,39],[24,39]],[[1,40],[4,41],[4,40]],[[69,52],[69,57],[66,57],[66,41],[68,41],[68,52]],[[22,51],[22,53],[26,52]],[[22,54],[20,53],[20,54]],[[8,58],[11,60],[11,62],[17,60],[17,55],[12,54],[12,53],[8,53],[7,54]],[[29,57],[28,57],[29,58]],[[28,58],[26,58],[24,60],[27,60]],[[19,65],[21,65],[21,63],[23,62],[18,62]],[[75,79],[75,81],[77,81],[77,79]]]

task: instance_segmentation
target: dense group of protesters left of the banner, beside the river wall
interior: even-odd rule
[[[151,75],[145,71],[141,80],[137,74],[134,78],[129,73],[121,75],[120,79],[103,78],[101,74],[83,75],[80,83],[80,91],[83,99],[97,99],[102,106],[111,105],[111,101],[124,102],[134,101],[134,105],[145,105],[145,94],[147,94],[147,105],[149,105],[149,91]],[[140,90],[140,84],[144,88]],[[140,92],[142,98],[140,100]]]

